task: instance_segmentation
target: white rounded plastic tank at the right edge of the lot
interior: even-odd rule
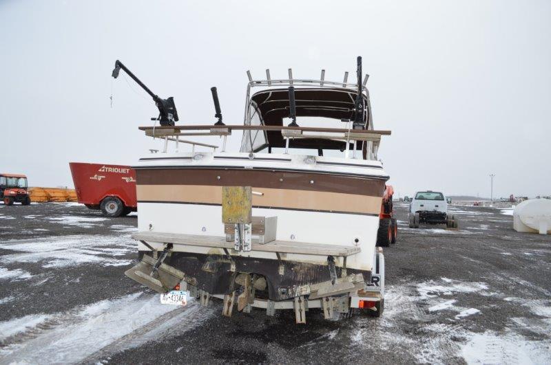
[[[513,228],[517,232],[551,233],[551,200],[529,199],[513,212]]]

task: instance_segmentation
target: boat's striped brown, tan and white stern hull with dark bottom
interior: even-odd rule
[[[333,259],[338,277],[346,269],[346,274],[362,274],[366,282],[370,280],[388,179],[379,162],[339,164],[318,157],[312,164],[311,157],[304,156],[198,155],[146,158],[134,166],[138,231],[225,236],[222,188],[251,186],[256,193],[252,215],[277,217],[275,240],[360,250],[333,258],[302,252],[225,252],[220,247],[180,242],[171,246],[165,263],[185,273],[188,283],[211,294],[229,294],[235,290],[236,274],[257,274],[267,278],[269,299],[284,300],[301,295],[311,284],[331,280],[328,262]],[[161,251],[167,243],[141,242],[138,251],[148,252],[151,247]],[[229,258],[236,263],[233,270]],[[284,265],[283,275],[280,265]]]

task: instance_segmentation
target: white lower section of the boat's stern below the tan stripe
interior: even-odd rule
[[[225,236],[222,225],[222,207],[181,203],[138,203],[138,231],[170,232],[204,236]],[[298,241],[360,247],[358,254],[349,256],[346,267],[371,271],[379,217],[360,214],[329,212],[302,212],[284,209],[253,208],[253,215],[278,217],[278,241]],[[151,225],[151,229],[149,228]],[[292,238],[294,237],[294,238]],[[357,239],[357,243],[355,242]],[[163,243],[149,243],[159,250]],[[142,243],[139,250],[149,250]],[[221,254],[221,249],[194,245],[174,245],[174,252],[197,254]],[[273,252],[231,252],[231,255],[277,260]],[[324,256],[285,254],[282,259],[304,263],[326,264]],[[337,262],[337,266],[342,266]]]

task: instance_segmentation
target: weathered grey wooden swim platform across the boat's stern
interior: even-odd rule
[[[190,245],[216,247],[233,250],[233,242],[227,242],[225,236],[203,236],[196,234],[176,234],[163,232],[138,232],[132,238],[147,243],[172,243],[173,245]],[[344,245],[325,245],[323,243],[306,243],[295,241],[271,241],[258,243],[252,240],[252,250],[262,252],[279,252],[285,254],[306,254],[316,256],[351,256],[360,252],[360,247]]]

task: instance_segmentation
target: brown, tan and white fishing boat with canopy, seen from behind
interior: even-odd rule
[[[389,177],[377,151],[391,132],[373,128],[361,57],[357,82],[266,72],[247,71],[242,124],[222,122],[213,87],[216,123],[175,125],[168,115],[139,127],[163,150],[132,166],[141,261],[126,275],[164,298],[175,289],[202,305],[220,298],[225,316],[234,307],[291,309],[297,323],[315,308],[327,319],[351,309],[380,316],[375,243]],[[240,150],[227,151],[236,134]],[[198,135],[222,146],[182,139]]]

